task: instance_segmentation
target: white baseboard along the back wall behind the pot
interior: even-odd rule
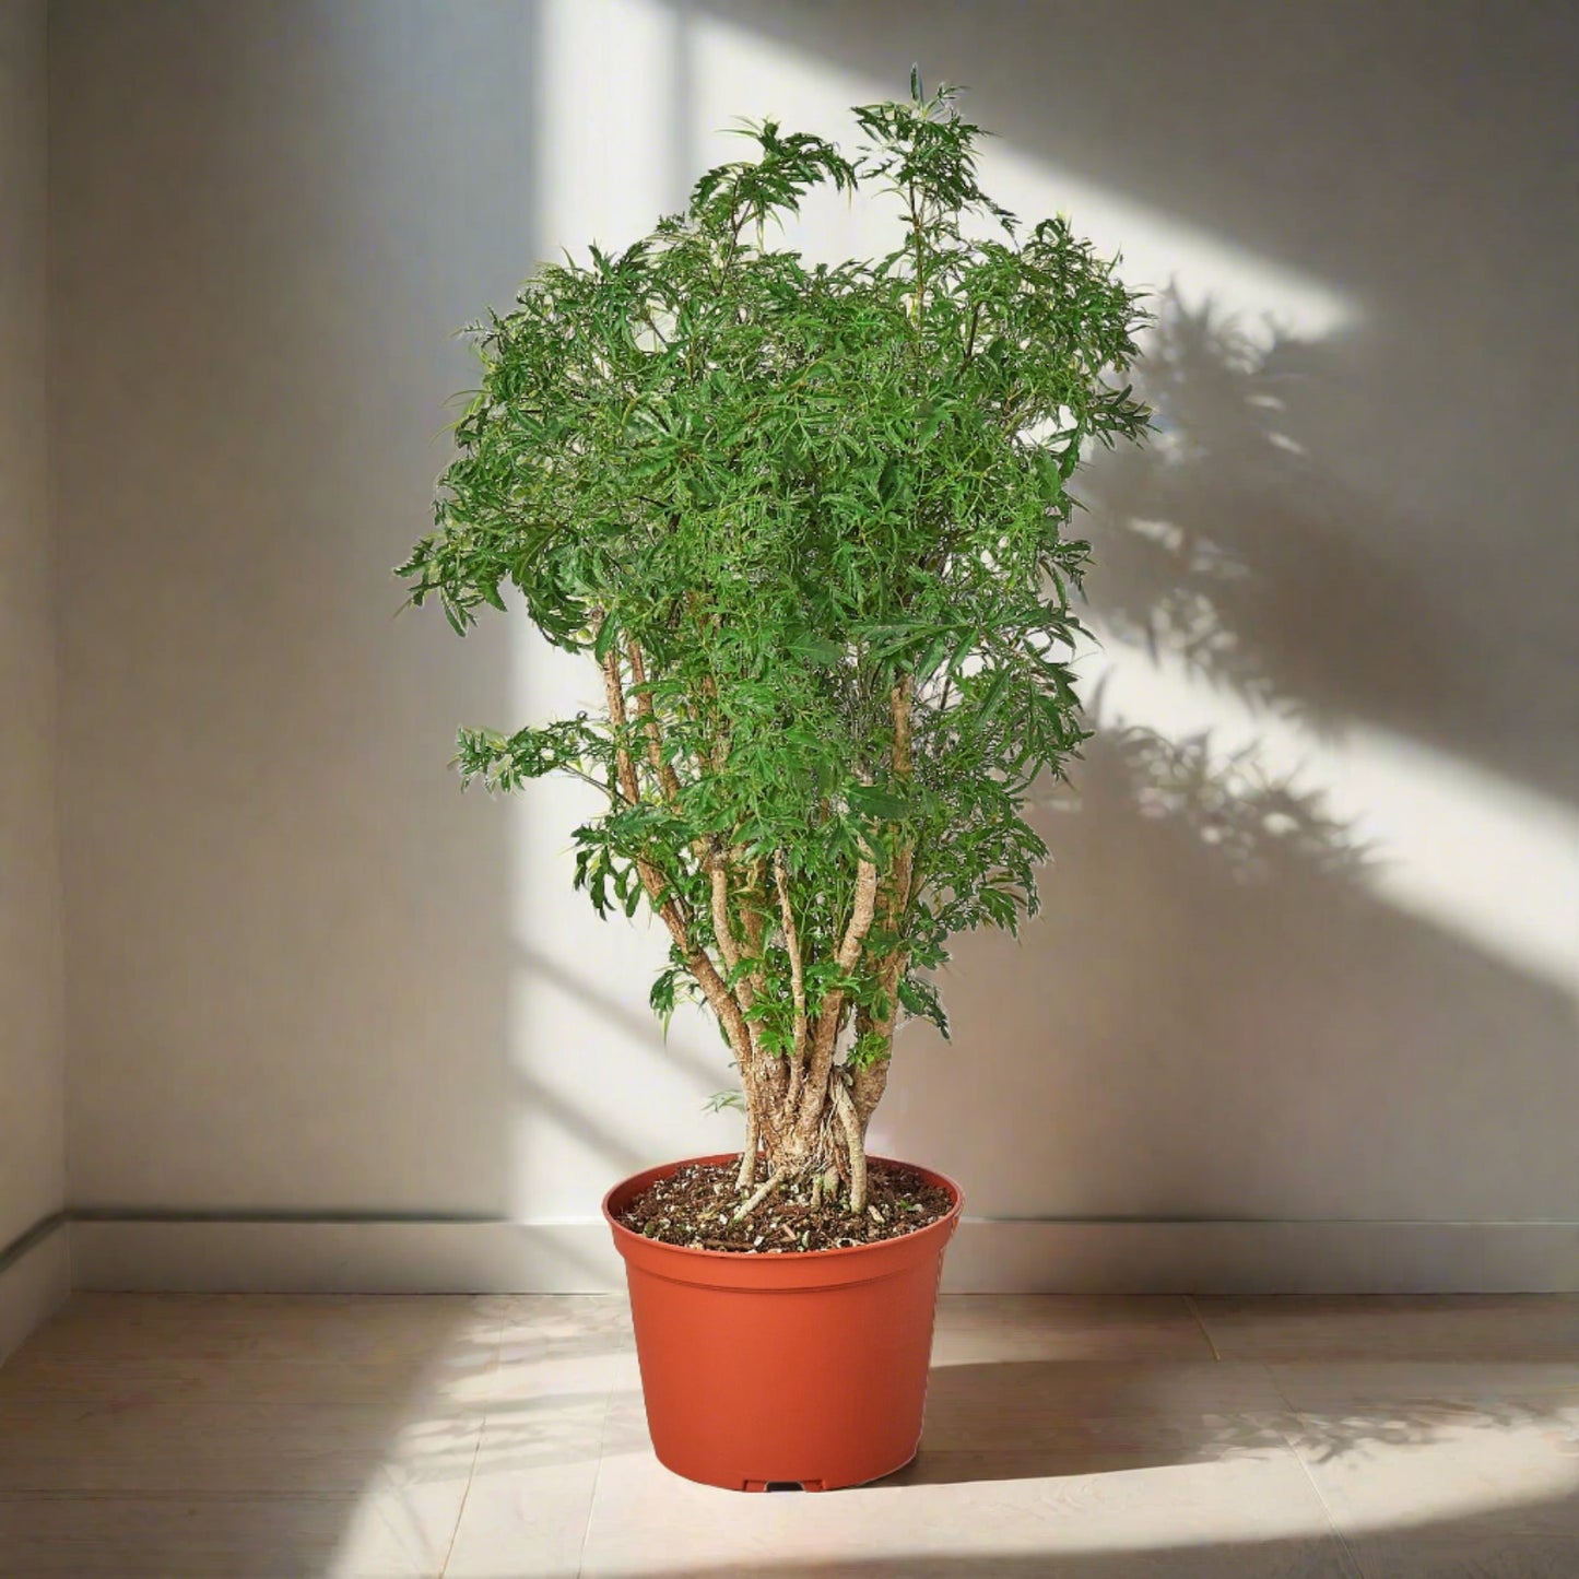
[[[613,1293],[625,1284],[602,1222],[77,1221],[71,1263],[77,1288]],[[1579,1222],[966,1219],[949,1247],[943,1287],[949,1293],[1576,1293]]]

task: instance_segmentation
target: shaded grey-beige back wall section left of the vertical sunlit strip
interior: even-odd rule
[[[512,6],[52,33],[76,1205],[488,1213],[504,632],[395,619],[453,332],[526,264]]]

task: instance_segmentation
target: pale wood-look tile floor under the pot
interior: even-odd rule
[[[1579,1300],[943,1301],[861,1491],[652,1457],[624,1300],[79,1295],[0,1367],[0,1576],[1579,1579]]]

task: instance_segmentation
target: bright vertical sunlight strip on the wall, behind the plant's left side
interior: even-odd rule
[[[674,103],[681,22],[651,0],[542,6],[542,98],[532,136],[543,172],[534,231],[548,259],[624,246],[682,196]],[[512,608],[510,728],[602,704],[586,657],[551,647]],[[600,922],[570,887],[572,829],[597,791],[564,777],[526,786],[512,827],[512,1211],[532,1222],[589,1221],[598,1197],[644,1162],[737,1146],[739,1123],[703,1110],[728,1086],[712,1026],[677,1014],[668,1042],[647,1007],[668,936],[651,921]],[[617,1093],[617,1101],[611,1099]]]

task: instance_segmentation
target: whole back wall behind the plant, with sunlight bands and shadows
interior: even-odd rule
[[[731,114],[821,128],[916,58],[1004,134],[990,183],[1178,287],[1175,437],[1091,486],[1104,720],[1254,745],[1328,820],[1235,857],[1110,728],[880,1140],[996,1217],[1579,1221],[1573,27],[1347,16],[62,0],[76,1203],[589,1219],[736,1140],[717,1039],[646,1015],[655,940],[567,892],[573,788],[444,769],[584,681],[392,621],[385,567],[453,328],[673,208]],[[1180,589],[1198,671],[1140,639]]]

